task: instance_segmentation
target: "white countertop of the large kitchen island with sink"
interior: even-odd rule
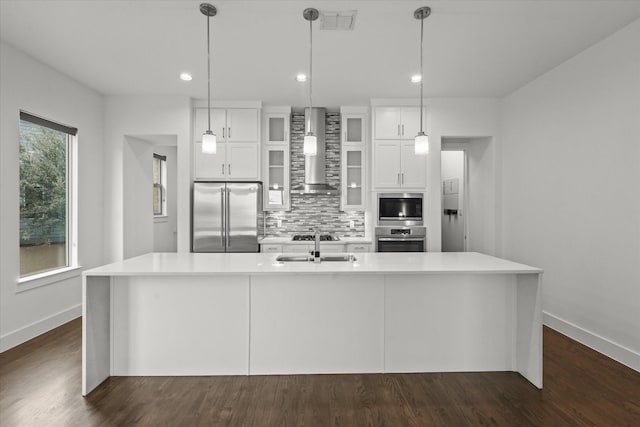
[[[357,261],[276,262],[269,253],[149,253],[87,270],[84,276],[257,274],[520,274],[542,273],[524,264],[477,252],[357,253]],[[335,255],[335,254],[331,254]]]

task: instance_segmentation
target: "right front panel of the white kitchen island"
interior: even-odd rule
[[[510,274],[385,275],[385,372],[512,371]]]

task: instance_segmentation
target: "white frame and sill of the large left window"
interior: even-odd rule
[[[20,276],[16,281],[16,292],[24,292],[40,286],[50,285],[72,277],[78,277],[82,267],[78,264],[78,129],[41,116],[20,110],[19,121],[63,132],[66,138],[66,257],[65,266]],[[18,124],[19,126],[19,124]],[[20,135],[20,131],[19,131]],[[20,139],[18,139],[20,144]],[[18,185],[20,178],[18,178]],[[18,218],[20,215],[18,214]],[[20,228],[20,227],[19,227]],[[18,241],[18,249],[20,244]],[[18,257],[19,259],[20,257]]]

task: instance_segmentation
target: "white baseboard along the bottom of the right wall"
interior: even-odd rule
[[[571,322],[549,314],[546,311],[543,311],[542,315],[543,323],[551,329],[555,329],[563,335],[566,335],[569,338],[572,338],[579,343],[612,358],[616,362],[620,362],[623,365],[640,372],[640,354],[635,351],[601,337],[600,335],[594,334],[593,332],[587,331]]]

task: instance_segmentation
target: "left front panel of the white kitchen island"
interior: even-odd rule
[[[247,375],[249,276],[118,277],[113,375]]]

